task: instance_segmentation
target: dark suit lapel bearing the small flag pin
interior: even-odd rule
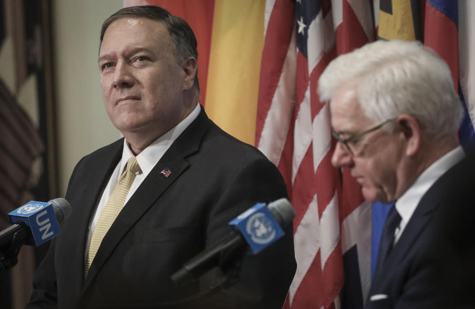
[[[102,268],[126,233],[187,169],[189,163],[186,157],[198,151],[201,139],[210,122],[201,108],[198,117],[177,138],[132,195],[104,236],[89,269],[85,289],[94,280],[97,272]],[[165,169],[171,171],[168,177],[161,173]]]

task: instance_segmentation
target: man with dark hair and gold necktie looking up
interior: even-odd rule
[[[282,308],[296,268],[291,227],[262,254],[232,263],[231,287],[220,284],[229,274],[221,268],[183,287],[170,279],[229,233],[230,220],[286,196],[276,166],[197,103],[188,24],[156,6],[124,8],[100,39],[103,99],[124,139],[76,165],[66,193],[73,214],[27,308]]]

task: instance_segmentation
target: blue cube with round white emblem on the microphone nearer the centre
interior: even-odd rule
[[[284,231],[265,203],[255,204],[229,224],[241,233],[253,254],[284,236]]]

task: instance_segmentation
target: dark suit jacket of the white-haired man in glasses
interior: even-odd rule
[[[423,196],[374,278],[365,309],[475,308],[475,159]],[[374,295],[387,298],[370,301]]]

